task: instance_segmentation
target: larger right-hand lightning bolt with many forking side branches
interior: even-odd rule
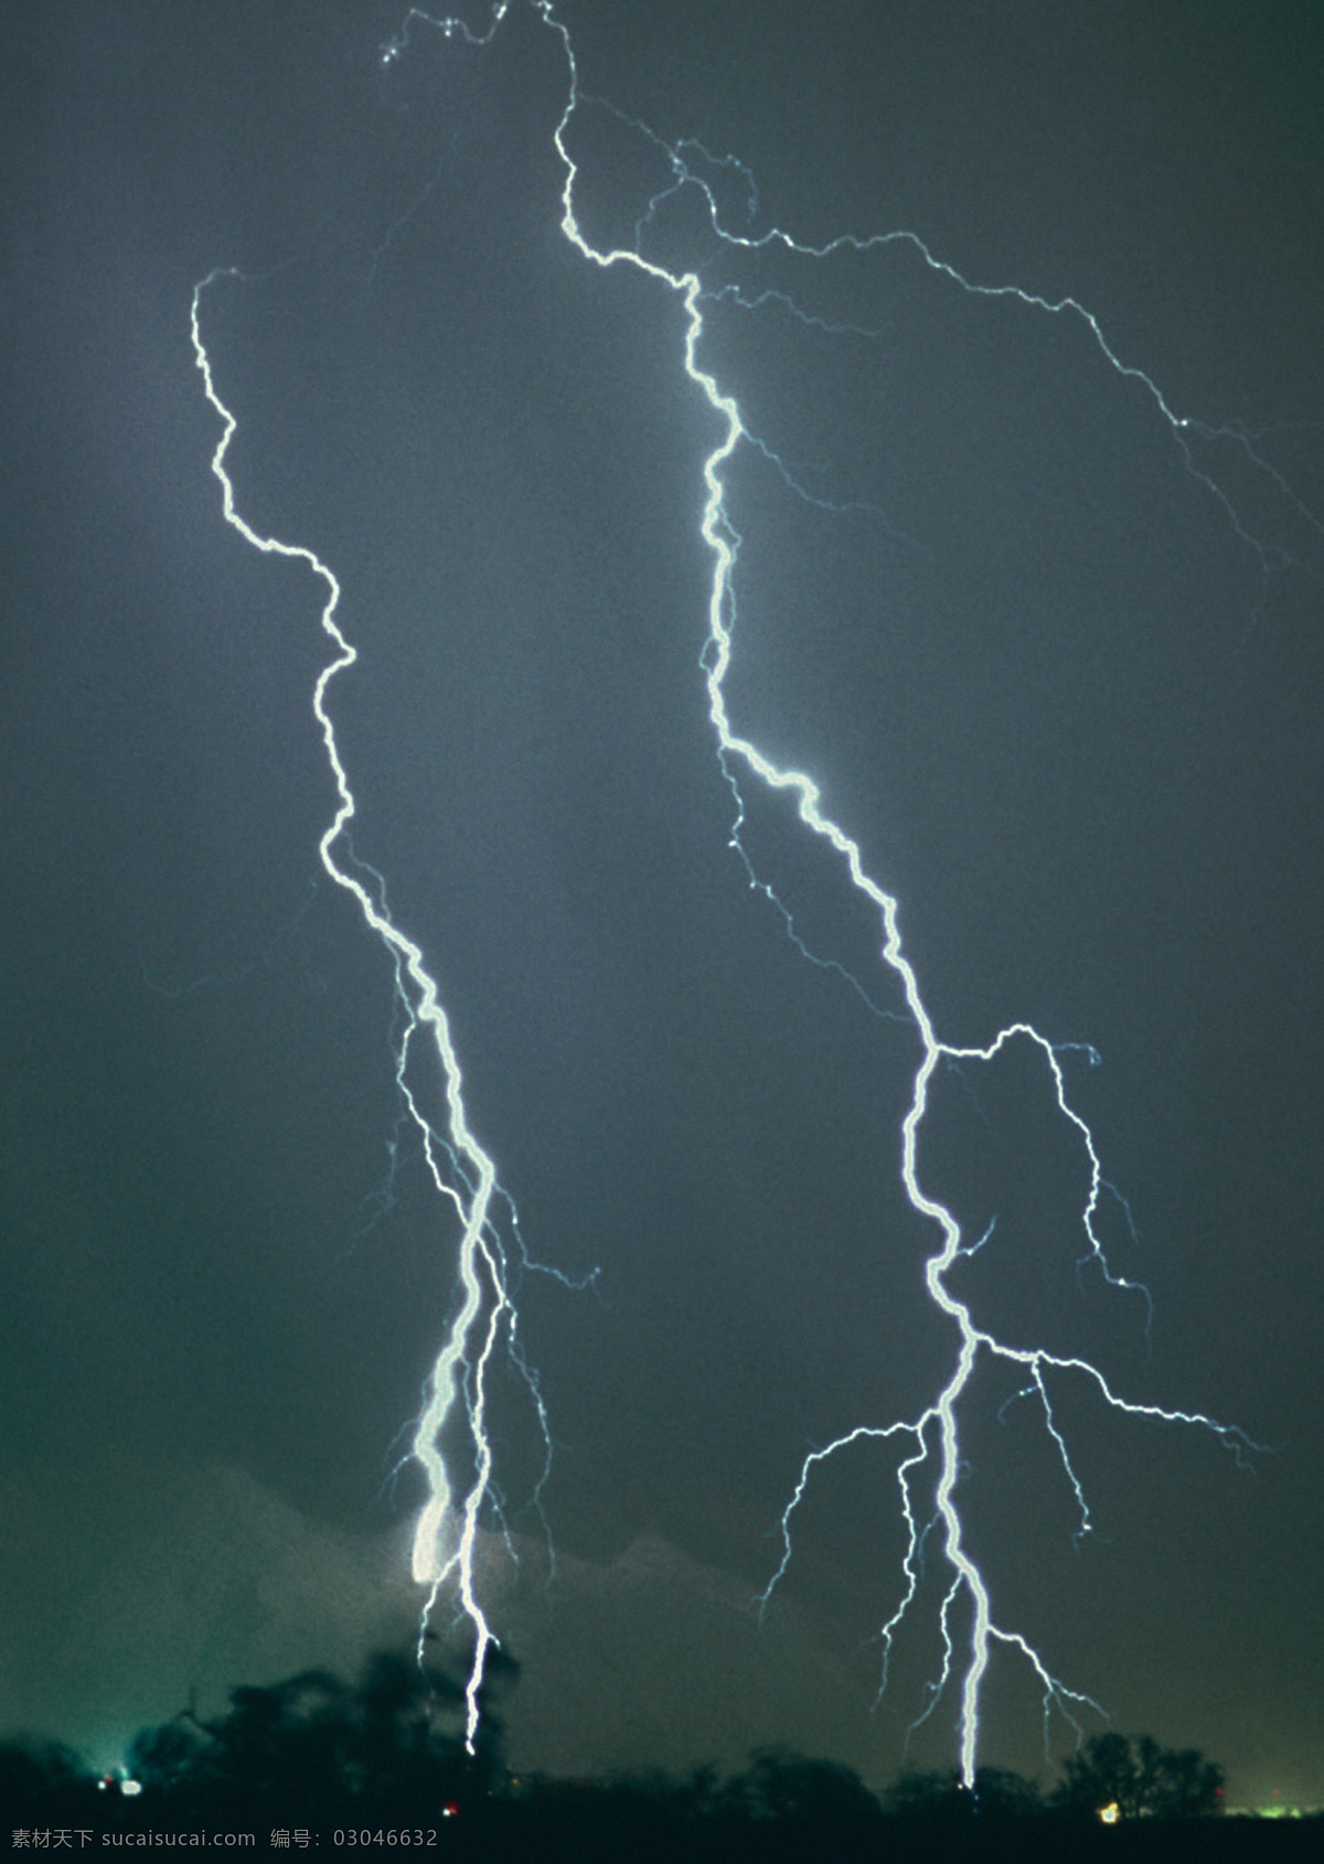
[[[1057,1448],[1065,1476],[1070,1484],[1072,1495],[1080,1510],[1080,1528],[1078,1528],[1080,1534],[1089,1532],[1091,1527],[1089,1506],[1085,1502],[1082,1482],[1076,1474],[1076,1469],[1072,1467],[1067,1441],[1061,1430],[1057,1428],[1054,1417],[1052,1398],[1048,1391],[1048,1376],[1063,1376],[1063,1377],[1074,1376],[1078,1379],[1091,1383],[1098,1391],[1106,1405],[1128,1417],[1156,1419],[1165,1424],[1199,1426],[1207,1432],[1212,1432],[1227,1448],[1231,1448],[1238,1456],[1244,1450],[1253,1448],[1253,1445],[1240,1428],[1221,1424],[1212,1417],[1205,1417],[1203,1413],[1175,1411],[1175,1409],[1164,1409],[1160,1405],[1136,1404],[1121,1396],[1111,1389],[1104,1374],[1083,1359],[1059,1357],[1041,1348],[1014,1348],[1005,1344],[1003,1340],[994,1338],[992,1333],[981,1329],[975,1323],[970,1307],[964,1301],[957,1299],[957,1295],[953,1295],[951,1290],[947,1288],[945,1281],[947,1271],[951,1269],[957,1256],[962,1254],[962,1232],[953,1213],[925,1189],[919,1176],[919,1161],[917,1161],[919,1130],[929,1105],[931,1081],[934,1070],[944,1059],[990,1062],[1013,1040],[1031,1042],[1041,1051],[1044,1066],[1048,1068],[1048,1074],[1054,1083],[1057,1109],[1061,1117],[1078,1133],[1080,1143],[1083,1144],[1089,1159],[1089,1193],[1085,1208],[1082,1212],[1082,1225],[1087,1240],[1089,1256],[1098,1262],[1110,1282],[1113,1282],[1115,1286],[1128,1288],[1132,1284],[1123,1282],[1121,1277],[1113,1275],[1111,1269],[1108,1268],[1104,1249],[1095,1230],[1095,1212],[1098,1208],[1100,1189],[1104,1187],[1098,1154],[1095,1150],[1095,1143],[1085,1120],[1074,1111],[1074,1107],[1067,1100],[1067,1090],[1057,1053],[1054,1046],[1037,1029],[1029,1027],[1027,1023],[1013,1023],[1011,1027],[1000,1031],[986,1048],[953,1048],[951,1044],[945,1044],[938,1038],[919,992],[919,979],[916,975],[910,958],[903,949],[899,902],[895,895],[888,893],[882,885],[878,885],[876,880],[873,880],[865,872],[858,843],[832,816],[828,816],[822,811],[821,792],[819,787],[813,783],[813,779],[800,770],[785,770],[774,764],[750,738],[742,736],[731,723],[725,701],[725,677],[733,654],[735,569],[740,550],[740,535],[727,514],[724,468],[727,466],[727,462],[740,445],[755,445],[761,447],[763,451],[766,451],[766,447],[755,434],[752,434],[746,429],[737,399],[731,393],[727,393],[720,386],[716,377],[710,371],[707,371],[699,362],[699,349],[705,334],[703,304],[707,293],[697,270],[688,270],[688,272],[669,270],[668,267],[649,259],[640,250],[643,229],[647,227],[656,209],[656,201],[649,205],[649,211],[638,222],[640,240],[636,242],[634,248],[617,246],[610,250],[600,250],[595,244],[591,244],[589,239],[586,239],[574,207],[578,166],[567,144],[571,119],[574,117],[574,112],[580,108],[582,101],[574,47],[571,43],[571,34],[567,26],[556,17],[550,0],[533,0],[533,4],[543,21],[548,24],[548,28],[552,28],[561,37],[569,71],[567,104],[554,132],[556,149],[565,170],[565,181],[561,188],[561,231],[571,240],[571,244],[584,255],[584,259],[589,261],[591,265],[602,268],[612,268],[612,267],[638,268],[640,272],[656,280],[660,285],[664,285],[668,291],[675,293],[681,298],[686,319],[684,349],[683,349],[684,375],[699,390],[707,404],[722,421],[724,429],[718,445],[709,453],[709,457],[703,462],[705,500],[703,500],[703,513],[699,518],[699,531],[712,555],[712,582],[709,587],[707,639],[703,643],[701,667],[707,682],[709,720],[712,723],[712,731],[716,736],[718,762],[722,768],[722,775],[725,777],[735,798],[737,815],[731,831],[731,846],[744,861],[752,885],[766,893],[772,904],[778,906],[778,910],[783,913],[787,928],[793,930],[787,908],[778,900],[776,893],[766,884],[759,882],[753,865],[750,861],[750,856],[746,854],[746,848],[740,841],[740,824],[744,820],[740,770],[755,777],[768,790],[789,792],[794,798],[800,822],[811,835],[824,841],[834,850],[834,854],[839,856],[839,859],[847,867],[852,887],[856,887],[856,891],[862,893],[876,910],[882,928],[880,956],[882,962],[897,979],[897,982],[901,984],[901,994],[906,1005],[908,1021],[912,1023],[919,1038],[919,1066],[914,1076],[910,1107],[904,1115],[901,1128],[901,1174],[910,1204],[921,1217],[925,1217],[931,1225],[936,1227],[940,1236],[938,1247],[932,1251],[932,1254],[925,1264],[925,1284],[929,1288],[929,1297],[932,1299],[934,1307],[942,1314],[945,1314],[955,1327],[957,1333],[955,1364],[944,1389],[917,1419],[899,1420],[886,1426],[856,1426],[854,1430],[841,1435],[835,1443],[813,1450],[806,1458],[800,1469],[800,1478],[794,1487],[794,1493],[781,1515],[781,1540],[783,1540],[781,1562],[774,1571],[772,1579],[768,1581],[768,1586],[765,1588],[763,1601],[766,1603],[766,1599],[770,1599],[778,1581],[783,1577],[791,1562],[793,1556],[791,1521],[800,1501],[806,1495],[813,1469],[826,1458],[835,1456],[837,1452],[845,1450],[848,1445],[863,1437],[908,1439],[912,1448],[901,1461],[897,1474],[901,1487],[901,1512],[908,1530],[908,1545],[903,1558],[904,1586],[901,1603],[893,1610],[891,1618],[882,1625],[884,1665],[890,1655],[893,1637],[901,1627],[903,1620],[906,1618],[917,1592],[916,1562],[921,1549],[921,1530],[916,1514],[914,1491],[919,1480],[919,1473],[925,1471],[932,1478],[932,1510],[934,1510],[934,1519],[940,1523],[942,1549],[951,1571],[951,1584],[944,1596],[940,1612],[940,1633],[944,1646],[942,1674],[936,1679],[936,1683],[931,1685],[931,1700],[929,1707],[925,1709],[925,1715],[932,1713],[932,1709],[936,1707],[936,1702],[944,1693],[951,1678],[953,1666],[957,1663],[951,1610],[957,1599],[964,1596],[972,1616],[972,1629],[970,1629],[968,1659],[964,1665],[964,1674],[960,1678],[959,1747],[960,1747],[962,1780],[968,1788],[973,1788],[977,1745],[979,1745],[981,1689],[988,1670],[992,1648],[996,1644],[1018,1652],[1020,1657],[1024,1657],[1026,1663],[1035,1672],[1039,1685],[1042,1689],[1046,1735],[1048,1735],[1050,1713],[1054,1707],[1057,1707],[1076,1730],[1080,1730],[1080,1724],[1074,1720],[1072,1707],[1096,1707],[1096,1704],[1093,1704],[1089,1696],[1072,1691],[1063,1681],[1059,1681],[1050,1672],[1039,1652],[1018,1631],[1007,1629],[994,1620],[988,1583],[966,1547],[964,1527],[957,1506],[957,1480],[960,1465],[960,1433],[959,1433],[957,1411],[962,1396],[970,1389],[979,1359],[981,1357],[1001,1359],[1009,1364],[1024,1368],[1024,1372],[1029,1376],[1029,1389],[1037,1392],[1042,1404],[1044,1424]],[[505,7],[500,7],[496,11],[492,30],[496,30],[496,24],[500,24],[500,17],[503,15],[503,11]],[[714,199],[709,183],[703,179],[703,175],[696,173],[692,166],[686,162],[686,149],[692,145],[668,147],[660,144],[658,138],[653,136],[653,132],[647,130],[643,125],[636,127],[656,147],[664,151],[671,166],[673,179],[671,186],[666,192],[677,192],[679,188],[684,186],[697,188],[707,205],[710,229],[727,248],[744,248],[753,252],[768,246],[779,246],[802,257],[826,259],[832,254],[841,252],[845,248],[850,248],[854,252],[867,252],[904,242],[919,252],[919,255],[923,257],[925,265],[931,270],[951,280],[955,285],[959,285],[962,291],[973,296],[1014,298],[1027,309],[1044,311],[1050,315],[1078,317],[1085,324],[1096,347],[1102,350],[1110,367],[1115,369],[1119,377],[1126,380],[1136,380],[1147,390],[1160,418],[1171,429],[1171,434],[1180,449],[1186,470],[1192,472],[1199,479],[1199,483],[1207,488],[1207,492],[1221,505],[1234,535],[1240,539],[1242,544],[1246,544],[1249,550],[1255,552],[1261,569],[1264,570],[1264,574],[1268,574],[1270,570],[1268,552],[1246,529],[1227,492],[1205,472],[1201,472],[1201,468],[1195,464],[1192,457],[1188,432],[1192,431],[1208,432],[1208,429],[1203,429],[1199,427],[1199,423],[1192,423],[1173,414],[1158,386],[1141,369],[1124,363],[1115,354],[1095,315],[1087,311],[1082,304],[1078,304],[1074,298],[1061,298],[1057,302],[1052,302],[1035,293],[1022,291],[1020,287],[973,285],[966,278],[962,278],[960,272],[957,272],[951,265],[934,257],[929,246],[914,233],[882,233],[871,239],[843,235],[841,239],[830,240],[824,246],[804,246],[779,227],[772,227],[770,231],[761,233],[757,237],[731,233],[722,226],[718,203]],[[753,201],[753,188],[750,188],[750,199]],[[757,302],[759,300],[752,300],[748,308],[755,309]],[[1253,453],[1253,449],[1246,442],[1246,436],[1240,431],[1236,432],[1227,431],[1227,438],[1242,445],[1261,470],[1272,472],[1272,468],[1268,468]],[[787,483],[793,485],[789,475]],[[970,1247],[977,1249],[979,1243],[973,1243]],[[968,1249],[964,1253],[968,1253]],[[1147,1292],[1145,1290],[1139,1292],[1145,1295],[1147,1301],[1149,1299]],[[886,1670],[884,1670],[884,1687],[886,1687]]]

